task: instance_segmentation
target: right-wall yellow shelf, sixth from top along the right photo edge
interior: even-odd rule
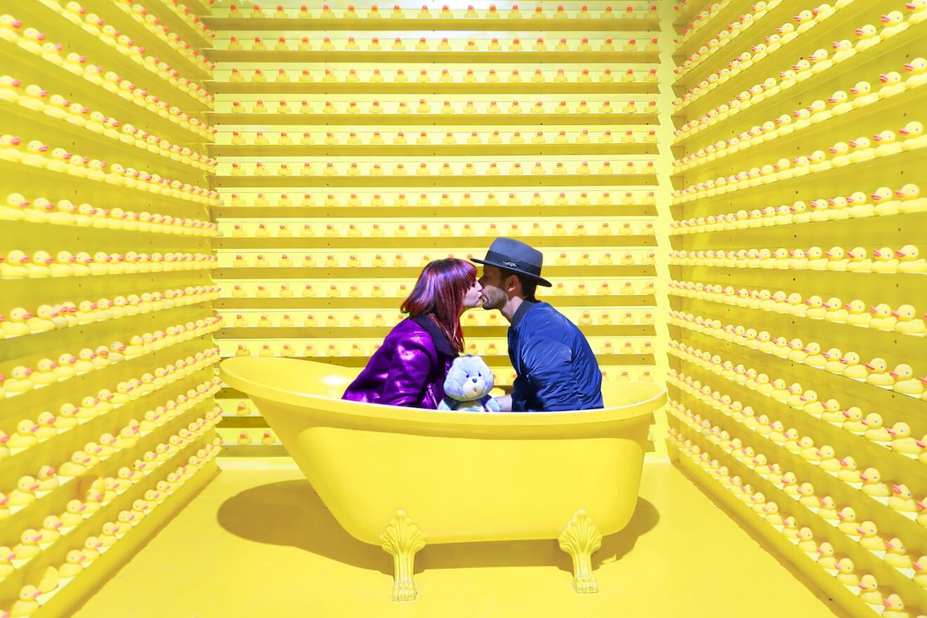
[[[907,290],[908,295],[911,290]],[[845,295],[844,295],[845,296]],[[846,300],[850,300],[846,297]],[[882,297],[879,301],[883,301]],[[844,352],[853,350],[863,359],[869,360],[891,350],[893,359],[918,364],[923,362],[924,338],[906,336],[892,331],[877,331],[871,328],[862,328],[849,324],[811,320],[783,313],[774,313],[762,309],[746,307],[730,307],[697,298],[680,298],[670,296],[670,303],[675,307],[684,308],[686,312],[710,317],[724,323],[749,323],[751,326],[762,324],[763,330],[773,334],[787,333],[789,337],[798,337],[802,341],[827,342],[827,351],[836,347]],[[782,335],[784,336],[784,335]],[[927,433],[927,427],[925,427]]]

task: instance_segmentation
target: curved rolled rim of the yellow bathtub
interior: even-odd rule
[[[408,427],[420,428],[459,428],[470,430],[492,430],[503,427],[534,427],[554,428],[564,426],[601,425],[603,423],[616,423],[640,419],[652,415],[659,410],[667,400],[666,386],[654,382],[625,382],[623,385],[635,385],[652,391],[650,397],[634,401],[623,406],[603,408],[599,410],[565,410],[556,412],[456,412],[438,410],[420,410],[417,408],[403,408],[387,406],[376,403],[349,401],[341,398],[323,397],[321,395],[285,389],[277,385],[261,384],[259,381],[245,377],[243,374],[253,372],[250,367],[255,365],[276,365],[279,369],[274,374],[280,375],[286,369],[298,368],[307,375],[340,375],[348,379],[349,368],[339,367],[317,360],[283,359],[283,358],[233,358],[225,359],[220,365],[222,380],[249,397],[267,399],[277,403],[306,408],[320,412],[335,414],[350,419],[354,423],[366,426],[379,426],[385,421],[398,423]],[[264,368],[261,372],[266,372]],[[253,374],[253,373],[252,373]],[[347,386],[349,382],[344,385]],[[312,403],[308,406],[307,403]],[[366,422],[366,423],[359,423]],[[352,423],[353,424],[353,423]],[[394,425],[396,426],[396,425]]]

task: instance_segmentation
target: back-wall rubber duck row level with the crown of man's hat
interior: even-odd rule
[[[223,254],[231,258],[231,267],[232,268],[342,268],[347,266],[348,268],[363,268],[363,267],[373,267],[373,268],[382,268],[387,266],[387,259],[381,254],[374,254],[371,256],[360,256],[358,254],[349,254],[347,256],[342,254],[328,254],[324,259],[316,260],[315,256],[312,254],[306,254],[303,256],[302,260],[293,259],[288,254],[281,254],[275,262],[272,262],[264,254],[257,254],[253,259],[249,254]],[[453,254],[449,257],[453,258]],[[630,259],[633,258],[636,261],[629,263]],[[430,263],[433,259],[438,259],[435,256],[428,254],[421,254],[418,257],[418,263],[422,266]],[[467,259],[470,259],[469,257]],[[222,260],[225,263],[225,259]],[[589,253],[574,254],[561,252],[556,255],[552,260],[557,266],[591,266],[592,258]],[[610,251],[603,252],[602,255],[596,260],[597,266],[611,266],[614,265],[616,259],[612,257]],[[413,256],[406,257],[405,254],[397,253],[393,256],[390,265],[396,267],[408,266],[410,263],[414,263]],[[647,254],[639,253],[626,253],[624,257],[620,258],[620,265],[624,266],[652,266],[655,263],[655,254],[653,252]],[[626,282],[630,283],[630,282]],[[608,289],[608,284],[603,283],[603,288]]]

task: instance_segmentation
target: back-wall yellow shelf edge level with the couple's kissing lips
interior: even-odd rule
[[[551,301],[552,305],[558,308],[564,307],[588,307],[588,308],[612,308],[612,307],[654,307],[656,298],[648,295],[622,295],[622,296],[546,296],[543,298]],[[217,310],[239,310],[239,309],[267,309],[267,310],[287,310],[287,309],[398,309],[405,300],[399,296],[381,296],[379,298],[371,296],[338,296],[326,297],[316,296],[311,298],[292,297],[292,298],[220,298],[213,301],[212,307]]]

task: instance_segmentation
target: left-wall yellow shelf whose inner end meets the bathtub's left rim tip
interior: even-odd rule
[[[0,486],[16,486],[19,477],[25,474],[34,474],[36,472],[36,461],[51,463],[61,460],[70,456],[70,453],[75,450],[83,450],[83,446],[87,442],[99,440],[100,435],[105,433],[118,435],[121,428],[129,423],[131,419],[143,418],[146,410],[153,410],[169,399],[184,395],[191,388],[196,389],[198,385],[210,380],[213,375],[215,375],[215,368],[210,365],[185,376],[181,380],[177,380],[171,385],[166,385],[142,397],[133,399],[106,414],[101,414],[49,440],[40,442],[34,447],[19,451],[19,453],[4,460],[2,471],[0,471]],[[110,385],[111,390],[114,390],[113,386],[115,384]],[[88,395],[91,395],[91,393],[88,393]],[[29,418],[31,414],[31,411],[22,412],[23,418]],[[9,419],[9,421],[15,423],[19,419]],[[12,433],[12,430],[9,433]],[[13,541],[19,532],[19,530],[13,530],[10,533],[13,538],[3,538],[2,541]]]

